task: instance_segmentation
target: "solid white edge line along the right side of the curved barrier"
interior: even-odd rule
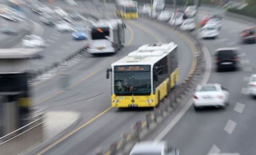
[[[210,78],[211,75],[211,54],[209,50],[204,47],[204,54],[206,55],[206,72],[202,80],[202,84],[206,84]],[[159,133],[156,138],[154,139],[155,141],[160,141],[162,138],[164,138],[167,133],[177,124],[177,122],[184,116],[184,114],[189,110],[189,107],[193,104],[193,98],[189,100],[189,102],[182,108],[181,111],[174,117],[174,119]]]

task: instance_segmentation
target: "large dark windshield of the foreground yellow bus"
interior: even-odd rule
[[[147,71],[121,72],[116,67],[114,72],[114,93],[116,95],[150,95],[150,66],[146,66],[145,70]]]

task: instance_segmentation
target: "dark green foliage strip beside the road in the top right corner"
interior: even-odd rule
[[[245,6],[241,10],[228,9],[228,11],[233,12],[233,13],[237,13],[237,14],[240,14],[240,15],[245,15],[245,16],[256,18],[256,13],[255,13],[256,12],[256,6],[248,5],[248,6]]]

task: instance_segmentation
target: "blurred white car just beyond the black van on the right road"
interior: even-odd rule
[[[202,38],[215,39],[219,34],[219,29],[215,24],[206,24],[203,28],[200,28],[200,35]]]

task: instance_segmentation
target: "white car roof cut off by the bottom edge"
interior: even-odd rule
[[[179,150],[166,141],[144,141],[134,145],[129,155],[180,155]]]

